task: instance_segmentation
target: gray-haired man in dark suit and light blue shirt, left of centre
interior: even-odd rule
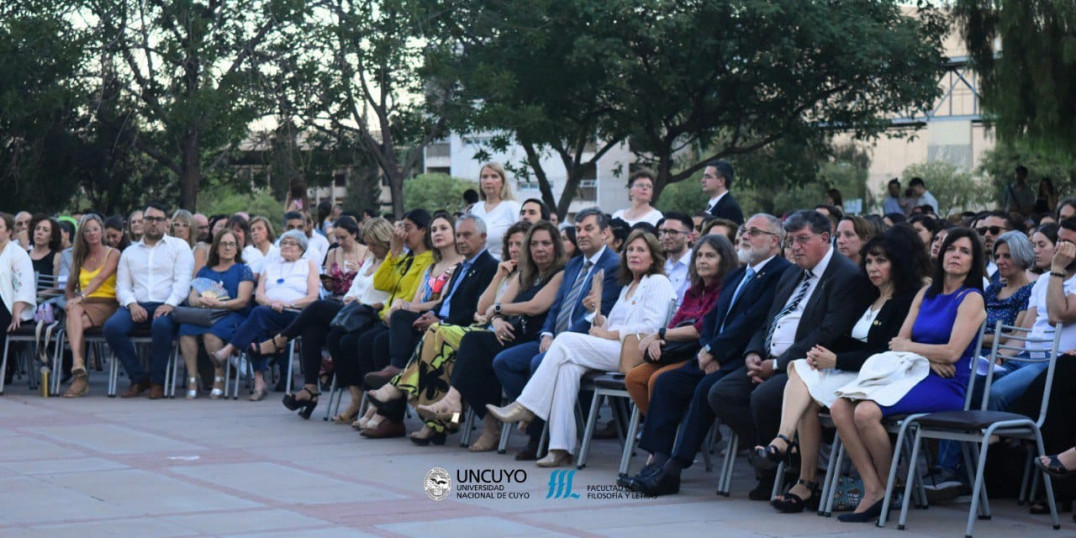
[[[485,250],[485,223],[481,217],[464,215],[456,222],[456,250],[464,256],[441,291],[441,300],[426,312],[397,310],[388,323],[390,364],[368,373],[367,385],[384,384],[402,370],[419,339],[435,323],[470,325],[475,323],[478,298],[497,272],[497,259]]]

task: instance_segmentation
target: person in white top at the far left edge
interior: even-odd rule
[[[26,250],[11,240],[14,229],[15,217],[0,213],[0,346],[8,332],[33,318],[38,308],[33,263]]]

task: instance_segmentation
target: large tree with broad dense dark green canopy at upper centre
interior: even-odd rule
[[[782,139],[818,145],[835,130],[870,138],[887,116],[931,110],[948,29],[937,11],[905,15],[895,1],[452,5],[470,102],[507,103],[516,115],[501,113],[500,127],[554,152],[583,127],[598,147],[629,136],[655,194],[711,159]],[[578,164],[565,161],[569,178]]]

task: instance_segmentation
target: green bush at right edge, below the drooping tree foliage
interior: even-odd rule
[[[1005,188],[1013,182],[1017,165],[1028,167],[1028,185],[1036,193],[1038,182],[1044,178],[1049,178],[1062,196],[1072,193],[1076,186],[1076,153],[1036,148],[1022,141],[1000,141],[993,148],[983,152],[982,162],[977,169],[980,175],[990,180],[992,201],[1004,203]]]

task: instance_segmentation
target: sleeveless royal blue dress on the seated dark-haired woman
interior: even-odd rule
[[[934,297],[923,296],[919,307],[916,324],[911,326],[911,341],[917,343],[944,344],[952,335],[957,323],[957,311],[964,297],[982,292],[961,287],[949,294],[938,294]],[[978,330],[978,328],[976,328]],[[977,344],[975,338],[967,344],[960,359],[953,365],[957,369],[951,378],[943,378],[934,370],[926,374],[916,386],[908,391],[900,401],[892,406],[879,406],[882,416],[908,413],[933,413],[937,411],[958,411],[964,408],[964,394],[967,380],[971,378],[972,355]]]

